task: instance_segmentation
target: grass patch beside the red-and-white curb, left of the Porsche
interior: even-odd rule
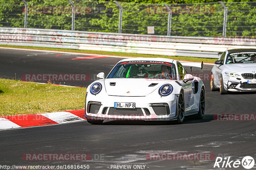
[[[86,88],[0,79],[0,117],[84,109]]]

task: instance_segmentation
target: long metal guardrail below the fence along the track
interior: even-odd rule
[[[167,56],[218,58],[219,52],[255,48],[250,39],[179,37],[0,27],[0,45],[37,46]]]

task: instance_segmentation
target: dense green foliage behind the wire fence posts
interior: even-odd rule
[[[118,32],[119,8],[114,2],[72,2],[76,6],[75,30]],[[169,3],[168,6],[172,9],[171,35],[221,36],[224,8],[219,2],[213,2],[214,0],[119,1],[123,8],[122,33],[147,34],[148,26],[154,26],[156,35],[167,35],[168,12],[164,4],[141,3]],[[0,3],[0,26],[24,27],[24,3],[21,0],[0,0]],[[28,28],[71,30],[72,5],[68,0],[27,0],[27,3]],[[228,9],[226,35],[254,36],[256,3],[224,4]]]

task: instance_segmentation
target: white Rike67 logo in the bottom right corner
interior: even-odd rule
[[[222,162],[223,161],[223,162]],[[215,160],[215,163],[214,163],[214,168],[215,167],[222,167],[222,168],[231,168],[231,167],[234,167],[234,168],[238,168],[240,167],[239,169],[241,169],[241,165],[245,168],[245,169],[251,169],[253,166],[254,166],[254,159],[251,157],[251,156],[245,156],[242,161],[240,160],[231,160],[230,161],[230,156],[228,157],[225,157],[224,159],[222,159],[221,157],[217,157],[216,160]]]

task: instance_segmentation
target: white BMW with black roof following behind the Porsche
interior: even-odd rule
[[[256,49],[224,51],[212,67],[211,90],[256,91]]]

